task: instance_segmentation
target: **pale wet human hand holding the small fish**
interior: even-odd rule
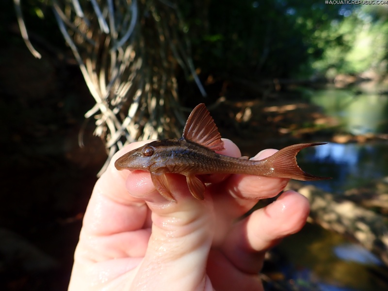
[[[221,154],[241,156],[235,144],[224,141]],[[213,183],[200,201],[190,194],[184,176],[169,174],[177,202],[167,201],[149,173],[113,166],[118,157],[148,142],[120,150],[97,180],[69,290],[263,290],[258,274],[265,252],[304,226],[307,199],[286,191],[239,219],[258,199],[282,191],[288,179],[212,175]],[[275,152],[267,149],[254,159]]]

